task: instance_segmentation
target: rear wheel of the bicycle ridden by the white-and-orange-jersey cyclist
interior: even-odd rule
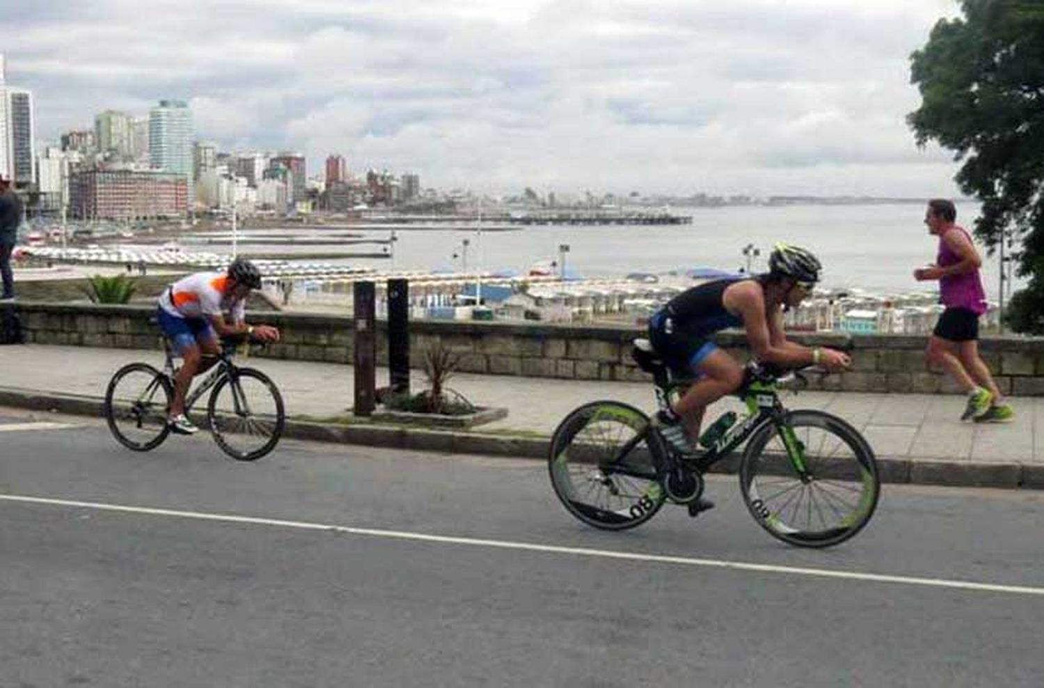
[[[123,393],[117,387],[135,373],[142,374],[141,389],[138,390],[137,381],[133,384],[126,382],[123,386],[127,388],[127,396],[122,396]],[[152,399],[157,393],[162,394],[159,402]],[[156,367],[148,363],[124,365],[116,371],[105,389],[102,409],[110,432],[127,449],[134,451],[156,449],[170,434],[167,411],[173,394],[170,379]],[[147,398],[143,398],[143,395],[147,395]],[[123,421],[128,421],[129,425]],[[135,427],[141,430],[140,437],[130,434],[130,430]]]

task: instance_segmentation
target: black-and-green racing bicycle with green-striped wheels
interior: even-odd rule
[[[645,339],[635,340],[632,355],[652,374],[660,408],[694,382],[672,376]],[[687,454],[673,450],[634,406],[608,400],[585,404],[551,438],[554,492],[570,514],[597,528],[641,525],[667,501],[689,505],[695,516],[704,474],[745,442],[739,488],[761,527],[801,547],[845,542],[877,506],[877,461],[865,438],[843,419],[783,406],[779,390],[807,384],[810,370],[749,364],[735,393],[743,413],[709,448]]]

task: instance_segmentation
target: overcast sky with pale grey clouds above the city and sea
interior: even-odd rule
[[[492,192],[954,195],[909,54],[954,0],[0,0],[42,140],[191,103],[226,150]]]

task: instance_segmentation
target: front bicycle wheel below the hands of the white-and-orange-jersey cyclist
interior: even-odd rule
[[[264,399],[266,412],[258,414],[256,419],[247,418],[247,416],[236,410],[239,407],[236,396],[241,395],[243,380],[256,380],[261,385],[260,387],[252,388],[254,404],[262,401],[264,393],[268,395]],[[222,392],[226,389],[229,390],[227,396],[230,396],[231,400],[219,403]],[[251,401],[247,400],[247,402]],[[250,416],[253,417],[254,413],[250,412]],[[233,382],[232,377],[224,375],[214,385],[214,390],[211,392],[210,401],[207,404],[207,420],[210,423],[210,431],[214,436],[214,442],[221,448],[221,451],[237,461],[255,461],[275,449],[276,445],[279,444],[279,438],[283,434],[283,428],[286,425],[283,396],[280,394],[276,383],[261,371],[252,367],[236,369],[235,382]],[[265,431],[266,428],[267,431]],[[245,430],[245,432],[236,432],[235,430],[237,429]],[[255,432],[255,430],[258,432]],[[237,449],[233,446],[232,436],[230,435],[241,434],[248,436],[262,434],[265,437],[265,442],[256,448],[247,450]]]

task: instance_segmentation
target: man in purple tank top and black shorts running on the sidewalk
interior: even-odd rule
[[[935,264],[914,270],[919,282],[939,280],[946,309],[928,339],[928,360],[942,366],[968,394],[962,421],[1006,423],[1015,417],[978,353],[978,319],[986,312],[986,292],[979,258],[972,238],[955,224],[957,210],[952,201],[928,201],[924,223],[939,237]]]

